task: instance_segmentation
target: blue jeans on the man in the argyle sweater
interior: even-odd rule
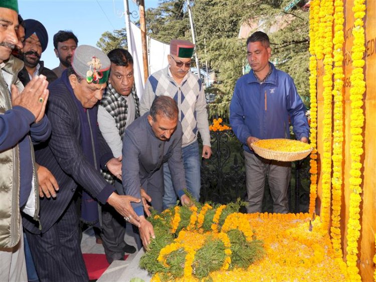
[[[201,163],[199,154],[199,143],[196,141],[191,145],[182,148],[185,182],[187,190],[199,201],[201,189]],[[171,173],[168,163],[163,165],[164,173],[164,196],[163,209],[176,205],[177,195],[172,186]]]

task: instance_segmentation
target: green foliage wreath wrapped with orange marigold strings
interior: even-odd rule
[[[240,208],[239,202],[216,207],[197,205],[175,206],[152,216],[156,238],[140,261],[141,267],[154,274],[151,281],[198,281],[213,271],[209,269],[228,271],[236,265],[244,268],[262,257],[262,242],[256,239],[248,215],[234,213]]]

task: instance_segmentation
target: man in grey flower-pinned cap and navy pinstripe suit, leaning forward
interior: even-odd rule
[[[59,190],[56,198],[41,199],[40,225],[29,217],[23,218],[42,281],[89,279],[72,201],[79,188],[87,192],[82,196],[82,217],[87,222],[98,223],[99,202],[108,203],[139,226],[140,218],[130,202],[140,199],[117,195],[100,174],[102,168],[121,177],[121,163],[113,157],[97,126],[97,103],[106,87],[109,69],[110,60],[102,51],[81,45],[73,55],[72,65],[49,86],[47,116],[53,129],[48,145],[36,152],[36,161],[56,177]]]

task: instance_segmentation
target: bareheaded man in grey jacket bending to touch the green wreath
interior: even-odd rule
[[[133,121],[123,137],[122,181],[126,195],[140,198],[141,187],[151,197],[151,206],[162,211],[164,193],[163,164],[168,165],[175,193],[183,205],[191,205],[181,159],[181,124],[177,120],[176,102],[168,96],[157,96],[150,112]],[[140,217],[140,237],[144,247],[154,237],[153,226],[145,219],[150,215],[145,201],[132,203]],[[129,220],[129,218],[126,218]]]

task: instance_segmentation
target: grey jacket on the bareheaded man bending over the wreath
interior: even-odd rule
[[[162,165],[168,162],[176,194],[181,197],[186,188],[181,156],[182,129],[177,122],[175,132],[168,141],[158,139],[147,121],[148,112],[137,118],[124,132],[122,181],[126,195],[140,197],[140,186],[146,192],[153,186],[163,185]],[[158,177],[155,177],[158,174]],[[153,182],[149,181],[152,178]],[[156,187],[164,189],[163,187]],[[154,199],[153,199],[154,200]],[[160,199],[161,200],[161,199]],[[138,215],[143,215],[142,201],[132,203]]]

